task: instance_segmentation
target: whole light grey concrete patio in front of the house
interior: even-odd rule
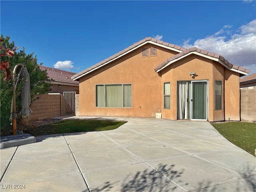
[[[1,149],[1,192],[256,191],[255,156],[209,122],[70,118],[128,122],[116,130],[38,136],[36,143]]]

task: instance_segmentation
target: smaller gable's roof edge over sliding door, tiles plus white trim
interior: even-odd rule
[[[250,70],[248,70],[246,68],[231,64],[230,62],[228,62],[228,60],[226,60],[223,56],[220,56],[219,54],[214,54],[214,53],[202,50],[202,49],[198,49],[196,47],[189,48],[187,50],[184,50],[184,51],[172,56],[171,58],[168,58],[167,60],[162,62],[160,65],[158,65],[156,68],[154,68],[154,70],[156,72],[160,72],[162,69],[166,68],[170,64],[172,64],[178,60],[181,60],[182,58],[189,56],[191,54],[196,54],[196,55],[202,56],[204,58],[208,58],[208,59],[214,60],[216,62],[219,62],[220,64],[222,64],[224,67],[228,68],[229,70],[240,73],[240,76],[247,75],[250,72]]]

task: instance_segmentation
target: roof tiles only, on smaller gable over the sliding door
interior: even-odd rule
[[[219,60],[219,62],[221,62],[227,68],[232,68],[234,70],[238,70],[240,72],[245,72],[245,73],[250,72],[250,70],[248,70],[246,68],[231,64],[230,62],[228,62],[228,60],[226,60],[223,56],[221,56],[219,54],[214,54],[214,53],[202,50],[202,49],[198,49],[196,47],[189,48],[187,50],[184,50],[184,51],[172,56],[171,58],[168,58],[167,60],[162,62],[160,65],[158,65],[156,68],[154,68],[154,70],[159,71],[162,68],[164,68],[169,62],[172,62],[172,61],[175,62],[176,59],[178,60],[179,58],[183,58],[184,56],[189,55],[194,52],[203,54],[204,56],[209,56],[211,58],[216,58]]]

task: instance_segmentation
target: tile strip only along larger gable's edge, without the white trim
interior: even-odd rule
[[[75,75],[72,76],[71,78],[74,79],[74,78],[76,78],[76,77],[78,77],[78,76],[80,76],[80,75],[82,75],[82,74],[84,74],[84,73],[86,73],[86,72],[89,72],[90,70],[101,66],[102,64],[104,64],[104,63],[106,63],[106,62],[108,62],[108,61],[110,61],[110,60],[112,60],[112,59],[114,59],[114,58],[120,56],[121,54],[124,54],[125,52],[128,52],[129,50],[131,50],[131,49],[133,49],[133,48],[135,48],[135,47],[139,46],[140,44],[143,44],[144,42],[147,42],[147,41],[152,41],[152,42],[158,43],[158,44],[160,44],[160,45],[168,46],[168,47],[171,47],[171,48],[180,50],[180,51],[185,51],[185,50],[187,50],[186,48],[182,48],[182,47],[180,47],[180,46],[176,46],[176,45],[170,44],[170,43],[168,43],[168,42],[164,42],[164,41],[161,41],[161,40],[157,40],[157,39],[152,38],[152,37],[146,37],[146,38],[140,40],[139,42],[136,42],[136,43],[134,43],[133,45],[129,46],[128,48],[125,48],[124,50],[118,52],[117,54],[114,54],[114,55],[110,56],[109,58],[106,58],[105,60],[103,60],[103,61],[101,61],[101,62],[98,62],[97,64],[95,64],[95,65],[93,65],[93,66],[91,66],[91,67],[89,67],[89,68],[87,68],[87,69],[85,69],[85,70],[79,72],[78,74],[75,74]]]

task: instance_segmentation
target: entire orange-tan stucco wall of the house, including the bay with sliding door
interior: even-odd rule
[[[157,48],[157,56],[142,57],[142,48],[80,78],[81,116],[127,116],[177,119],[177,81],[208,80],[208,121],[239,120],[239,74],[218,62],[190,55],[159,73],[154,68],[177,52]],[[196,72],[192,78],[188,72]],[[215,80],[222,81],[222,110],[215,110]],[[164,82],[171,84],[171,109],[163,109]],[[96,84],[132,84],[132,108],[96,108]],[[225,100],[225,102],[224,102]],[[238,100],[238,101],[237,101]]]

